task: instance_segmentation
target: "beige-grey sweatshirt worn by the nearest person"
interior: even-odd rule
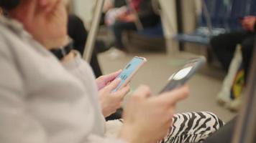
[[[104,138],[91,68],[60,62],[22,25],[0,19],[0,142],[122,142]]]

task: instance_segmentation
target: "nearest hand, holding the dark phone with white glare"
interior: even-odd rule
[[[171,118],[175,104],[188,97],[188,87],[165,92],[157,97],[150,95],[150,89],[145,86],[134,92],[124,109],[120,138],[130,143],[152,143],[163,139],[173,124]]]

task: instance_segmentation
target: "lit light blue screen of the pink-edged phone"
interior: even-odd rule
[[[129,61],[129,64],[125,66],[122,73],[119,74],[118,77],[116,77],[116,78],[120,78],[121,82],[116,87],[116,89],[114,89],[114,92],[116,92],[120,87],[122,87],[122,84],[126,82],[127,78],[132,76],[132,74],[137,70],[138,66],[141,66],[144,62],[145,62],[145,59],[140,57],[134,57],[131,61]]]

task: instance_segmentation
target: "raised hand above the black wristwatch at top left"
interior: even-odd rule
[[[32,35],[47,49],[68,44],[68,14],[63,0],[38,1],[40,14],[30,26]]]

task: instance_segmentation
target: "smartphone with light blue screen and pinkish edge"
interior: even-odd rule
[[[145,62],[147,62],[147,59],[145,59],[144,57],[135,56],[134,58],[132,58],[132,60],[129,61],[127,66],[124,67],[121,74],[119,74],[119,76],[116,77],[120,78],[121,82],[116,87],[116,89],[114,89],[113,92],[116,92],[118,89],[126,86],[131,81],[132,77],[134,77],[136,72],[140,69],[140,67],[142,67],[145,64]]]

